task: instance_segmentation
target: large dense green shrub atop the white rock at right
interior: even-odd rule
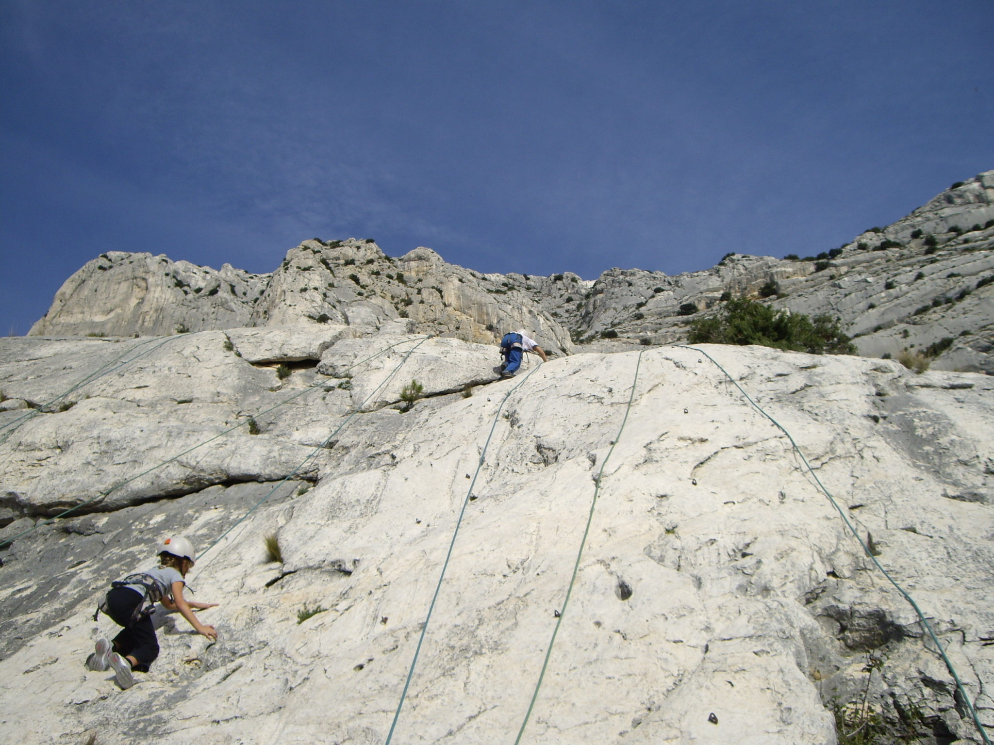
[[[722,311],[691,323],[691,344],[757,344],[814,355],[855,355],[856,347],[839,321],[790,314],[752,300],[730,300]]]

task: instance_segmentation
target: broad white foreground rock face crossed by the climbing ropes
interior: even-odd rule
[[[979,742],[911,607],[783,433],[706,356],[676,347],[575,355],[464,397],[445,391],[458,389],[460,370],[463,384],[485,373],[493,348],[421,340],[341,339],[317,368],[301,363],[278,380],[225,350],[219,332],[175,337],[154,365],[141,359],[93,377],[67,411],[33,409],[9,428],[23,412],[0,412],[0,435],[10,431],[0,462],[24,463],[26,439],[62,438],[61,451],[38,451],[32,471],[33,488],[52,499],[74,443],[116,426],[83,408],[90,402],[93,412],[124,411],[131,431],[144,417],[154,443],[177,449],[213,436],[224,417],[251,414],[262,430],[205,445],[218,450],[203,465],[187,458],[185,475],[164,469],[158,495],[83,510],[0,549],[4,731],[39,743],[91,733],[114,743],[382,743],[451,546],[395,742],[513,739],[557,613],[523,742],[822,745],[836,742],[832,699],[864,695],[896,736],[901,707],[918,712],[911,726],[922,741],[927,732]],[[69,362],[71,344],[0,340],[11,358],[4,386],[25,400],[49,395],[43,373]],[[98,373],[111,345],[76,344],[74,372]],[[994,725],[991,378],[704,349],[790,431],[859,535],[872,535],[878,560],[915,596]],[[351,368],[364,351],[384,354]],[[392,365],[380,365],[388,355]],[[347,369],[351,378],[341,376]],[[181,373],[190,403],[172,399]],[[385,394],[381,407],[349,418],[359,389],[391,373],[434,380],[426,389],[438,395],[402,414]],[[339,387],[349,379],[351,390]],[[83,398],[90,390],[100,395]],[[191,413],[167,417],[169,406]],[[85,419],[75,423],[68,415],[78,409]],[[169,437],[157,434],[167,428]],[[283,460],[255,444],[263,437],[281,443]],[[89,461],[129,473],[138,447],[121,441],[113,458]],[[289,460],[300,456],[315,486],[294,481],[268,497],[276,484],[248,477],[179,488],[239,458],[239,448],[272,460],[260,479],[297,479]],[[156,445],[145,464],[168,450]],[[93,473],[92,491],[105,482],[86,471],[89,461],[79,478]],[[22,513],[2,521],[7,537],[44,514],[14,506]],[[83,669],[97,631],[114,631],[89,618],[110,579],[146,565],[164,532],[203,549],[232,527],[188,577],[198,599],[222,603],[203,613],[217,644],[171,619],[159,660],[133,688]],[[264,554],[269,533],[282,563]]]

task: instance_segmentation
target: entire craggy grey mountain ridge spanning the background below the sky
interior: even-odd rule
[[[595,281],[479,274],[430,248],[399,258],[371,240],[305,240],[271,274],[221,271],[148,253],[102,254],[70,277],[34,336],[131,337],[287,324],[353,336],[411,320],[419,333],[492,344],[518,327],[549,350],[617,352],[686,339],[723,298],[768,298],[826,313],[862,354],[928,350],[941,370],[994,373],[994,171],[946,190],[907,218],[798,260],[730,253],[667,276],[609,269]],[[814,256],[803,254],[812,252]],[[809,260],[808,260],[809,259]]]

